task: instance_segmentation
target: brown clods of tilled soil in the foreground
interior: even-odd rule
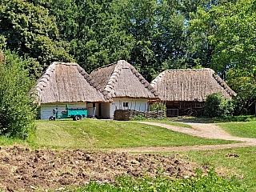
[[[174,155],[0,148],[0,190],[8,191],[58,190],[92,180],[114,182],[121,175],[183,178],[193,170]]]

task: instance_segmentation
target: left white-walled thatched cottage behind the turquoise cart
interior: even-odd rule
[[[73,62],[53,62],[38,79],[31,94],[37,98],[41,119],[49,119],[53,109],[65,110],[66,104],[70,108],[86,108],[88,117],[93,116],[93,107],[96,107],[97,116],[101,112],[99,103],[110,102],[107,92],[102,92],[89,74]]]

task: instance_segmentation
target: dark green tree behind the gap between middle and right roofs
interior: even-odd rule
[[[176,1],[117,1],[122,28],[134,38],[128,60],[151,81],[162,72],[184,65],[186,54],[184,17]]]

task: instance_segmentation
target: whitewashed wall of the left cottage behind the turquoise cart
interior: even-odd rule
[[[72,103],[49,103],[42,104],[40,116],[41,119],[49,119],[53,115],[53,109],[58,109],[60,115],[62,110],[66,110],[66,104],[69,104],[69,108],[86,108],[86,102],[72,102]]]

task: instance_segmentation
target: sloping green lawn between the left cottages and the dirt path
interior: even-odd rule
[[[193,146],[231,143],[181,134],[158,126],[138,122],[82,119],[36,121],[36,136],[29,138],[33,146],[50,148],[120,148],[136,146]]]

